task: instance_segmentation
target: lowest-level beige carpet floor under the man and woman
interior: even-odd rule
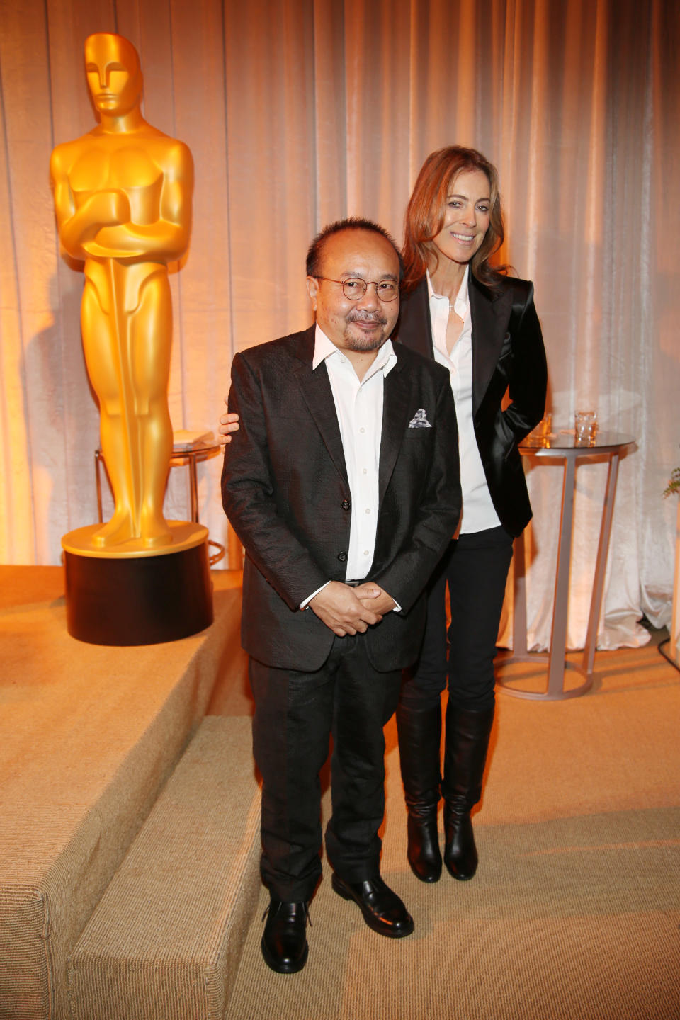
[[[680,1017],[680,676],[650,646],[595,668],[573,701],[499,695],[471,882],[408,869],[393,721],[382,872],[415,933],[371,932],[324,862],[307,967],[277,975],[261,890],[226,1020]]]

